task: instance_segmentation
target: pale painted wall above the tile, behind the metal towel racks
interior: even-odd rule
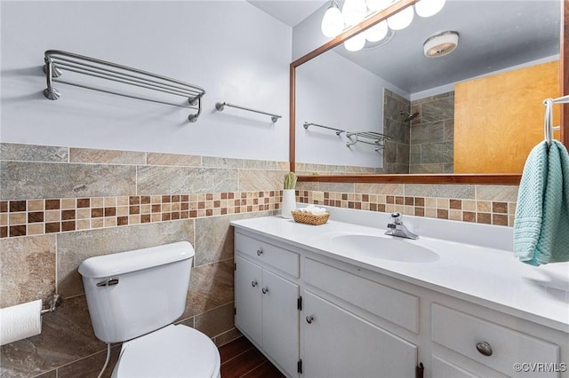
[[[288,160],[292,28],[244,1],[5,2],[0,140]],[[44,51],[71,51],[201,86],[203,114],[76,89],[44,98]],[[182,100],[183,101],[183,100]],[[227,101],[283,115],[226,108]]]

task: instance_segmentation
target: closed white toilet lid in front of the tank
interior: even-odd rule
[[[220,353],[194,328],[170,325],[123,343],[113,376],[120,378],[215,377]]]

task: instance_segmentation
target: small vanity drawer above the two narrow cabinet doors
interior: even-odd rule
[[[272,265],[293,277],[300,277],[301,257],[297,253],[237,232],[235,234],[235,249],[247,256],[254,257],[261,263]]]

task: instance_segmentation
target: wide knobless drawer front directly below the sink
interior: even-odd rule
[[[419,298],[309,258],[304,280],[357,307],[419,333]]]

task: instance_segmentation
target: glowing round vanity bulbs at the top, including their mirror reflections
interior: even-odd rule
[[[322,19],[322,34],[328,38],[341,35],[343,31],[357,25],[365,20],[365,18],[372,16],[376,12],[381,12],[399,1],[400,0],[346,0],[340,12],[336,0],[331,0],[330,6],[328,6],[324,18]],[[356,38],[357,35],[354,35],[349,39],[355,39],[357,43],[356,41],[349,43],[348,40],[344,43],[344,46],[346,46],[347,49],[349,46],[349,51],[361,50],[365,46],[365,42],[362,44],[362,41],[367,39],[368,41],[378,42],[385,38],[386,35],[393,36],[393,33],[389,33],[389,29],[402,30],[407,28],[413,22],[415,12],[421,17],[430,17],[439,12],[443,6],[445,6],[445,3],[446,0],[420,0],[415,3],[414,11],[413,6],[408,6],[389,17],[387,25],[385,20],[381,21],[379,24],[360,33],[363,34],[364,37]],[[361,47],[357,50],[351,50],[356,49],[358,46]]]

